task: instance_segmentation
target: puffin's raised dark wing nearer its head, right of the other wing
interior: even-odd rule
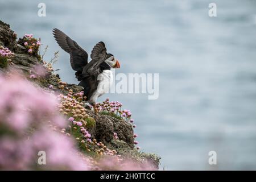
[[[106,60],[106,56],[107,52],[104,42],[97,43],[96,46],[93,47],[92,53],[90,54],[92,61],[86,64],[86,66],[82,70],[82,76],[97,76],[98,74],[100,74],[100,64]]]

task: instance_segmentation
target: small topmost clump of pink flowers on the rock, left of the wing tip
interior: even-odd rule
[[[23,39],[28,53],[36,53],[38,51],[41,45],[40,39],[33,38],[33,34],[25,34]]]

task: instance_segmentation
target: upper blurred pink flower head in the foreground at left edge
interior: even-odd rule
[[[56,117],[56,97],[35,88],[18,73],[10,74],[10,77],[0,75],[0,94],[5,96],[0,100],[0,124],[22,130],[30,123],[40,125],[44,118],[57,126],[65,125],[65,122],[59,122],[60,117]]]

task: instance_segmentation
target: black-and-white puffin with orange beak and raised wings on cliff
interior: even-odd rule
[[[84,96],[89,104],[108,92],[113,82],[111,68],[120,68],[120,63],[111,53],[107,53],[104,42],[93,47],[88,63],[88,53],[64,32],[53,28],[53,36],[59,46],[70,55],[70,64],[79,82],[84,88]]]

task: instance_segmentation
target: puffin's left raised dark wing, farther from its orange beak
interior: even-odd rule
[[[53,28],[53,36],[59,46],[69,53],[72,69],[81,72],[85,65],[88,64],[88,53],[57,28]]]

